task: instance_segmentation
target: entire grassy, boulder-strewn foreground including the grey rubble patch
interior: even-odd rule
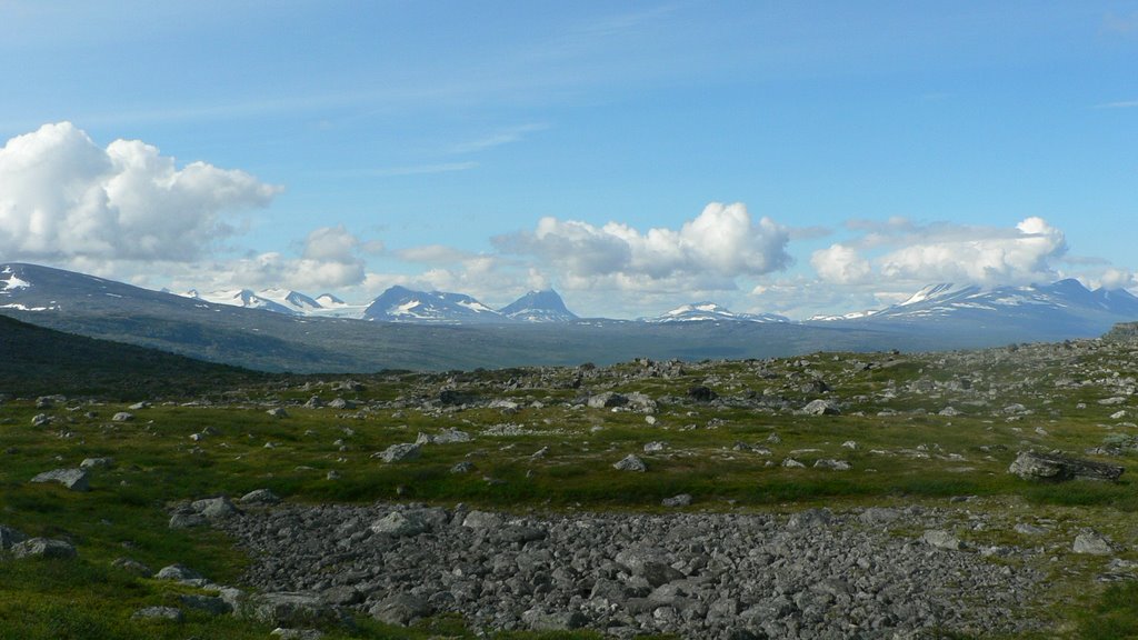
[[[1099,339],[5,397],[0,638],[1133,637],[1136,388]]]

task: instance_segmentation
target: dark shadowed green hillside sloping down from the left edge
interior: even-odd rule
[[[0,315],[0,394],[142,400],[200,395],[264,378],[237,367],[75,336]]]

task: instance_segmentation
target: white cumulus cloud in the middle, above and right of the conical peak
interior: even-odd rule
[[[790,231],[769,218],[752,221],[743,204],[709,204],[678,230],[641,232],[610,222],[595,227],[575,220],[543,218],[534,231],[493,238],[498,251],[536,256],[569,281],[608,280],[635,288],[668,279],[718,282],[785,268]]]

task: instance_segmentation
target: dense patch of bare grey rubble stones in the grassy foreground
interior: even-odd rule
[[[487,630],[820,639],[1032,627],[1022,612],[1042,588],[1031,568],[1041,550],[950,533],[991,519],[918,507],[511,516],[380,503],[217,526],[256,558],[249,584],[396,624],[451,612]]]

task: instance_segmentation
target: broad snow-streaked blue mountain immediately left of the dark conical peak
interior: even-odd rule
[[[384,322],[509,322],[510,320],[464,294],[415,292],[395,286],[379,295],[363,312],[364,320]]]

